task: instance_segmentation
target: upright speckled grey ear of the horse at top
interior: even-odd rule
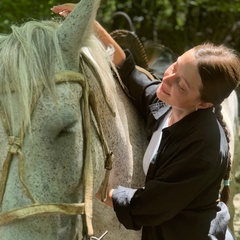
[[[100,0],[81,0],[57,30],[62,57],[68,70],[78,70],[79,50],[92,31]]]

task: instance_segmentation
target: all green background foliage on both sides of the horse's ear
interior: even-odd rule
[[[30,19],[51,19],[50,8],[78,0],[0,0],[0,32]],[[133,23],[114,13],[127,13]],[[108,31],[134,29],[145,42],[153,40],[181,53],[211,41],[239,49],[240,0],[102,0],[97,19]]]

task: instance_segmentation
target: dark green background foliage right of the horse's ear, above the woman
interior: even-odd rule
[[[127,13],[141,40],[153,40],[173,49],[176,53],[193,45],[211,41],[226,43],[238,49],[240,0],[107,0],[114,6],[99,10],[101,16],[109,12]],[[106,13],[107,12],[107,13]],[[129,29],[124,18],[102,18],[109,31]]]

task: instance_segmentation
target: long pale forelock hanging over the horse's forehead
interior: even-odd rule
[[[64,69],[56,34],[59,23],[28,21],[12,26],[12,33],[0,37],[0,104],[7,113],[10,134],[17,134],[14,117],[24,126],[31,123],[31,103],[45,87],[55,89],[55,66]],[[17,106],[16,106],[17,104]]]

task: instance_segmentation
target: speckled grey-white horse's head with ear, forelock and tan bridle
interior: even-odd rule
[[[75,239],[81,214],[87,216],[84,231],[92,235],[88,177],[92,165],[103,169],[104,163],[86,159],[104,156],[79,54],[98,6],[82,0],[60,24],[29,21],[0,37],[3,240]]]

